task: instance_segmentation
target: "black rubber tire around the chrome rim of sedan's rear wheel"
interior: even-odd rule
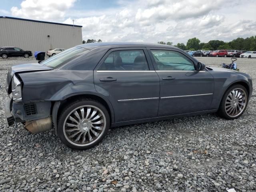
[[[96,106],[100,110],[102,110],[102,112],[104,113],[104,115],[106,117],[106,128],[104,130],[104,133],[100,136],[100,138],[93,144],[90,144],[88,146],[75,146],[75,145],[71,144],[70,142],[68,142],[68,140],[65,138],[64,132],[63,132],[63,124],[66,119],[66,116],[68,116],[68,114],[72,110],[74,110],[75,108],[78,108],[79,106],[83,106],[83,105]],[[109,127],[110,127],[110,116],[108,114],[108,110],[100,102],[97,102],[95,100],[84,99],[84,100],[77,100],[75,102],[72,102],[72,103],[68,104],[65,108],[63,108],[62,111],[60,111],[60,116],[58,118],[57,133],[58,133],[60,140],[69,148],[76,149],[76,150],[85,150],[85,149],[91,148],[93,146],[96,146],[99,142],[101,142],[102,139],[108,133]]]

